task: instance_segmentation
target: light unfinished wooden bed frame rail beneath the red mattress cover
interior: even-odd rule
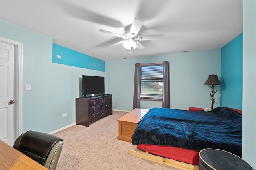
[[[137,145],[131,144],[128,153],[129,155],[136,156],[138,158],[143,158],[153,162],[158,162],[160,164],[165,164],[165,165],[172,166],[174,168],[179,168],[182,170],[199,170],[199,167],[197,165],[187,164],[177,160],[163,158],[161,156],[156,156],[156,155],[150,154],[149,152],[144,152],[142,150],[139,150],[137,149]]]

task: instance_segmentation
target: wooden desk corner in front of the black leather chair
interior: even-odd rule
[[[47,170],[38,162],[0,140],[1,170]]]

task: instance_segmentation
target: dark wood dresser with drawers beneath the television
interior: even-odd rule
[[[112,114],[112,94],[76,98],[77,125],[89,127],[90,123]]]

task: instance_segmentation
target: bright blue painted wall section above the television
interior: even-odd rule
[[[105,72],[105,61],[54,43],[52,44],[52,62]]]

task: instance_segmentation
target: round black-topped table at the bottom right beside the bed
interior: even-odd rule
[[[230,152],[208,148],[199,152],[199,170],[254,170],[254,168]]]

